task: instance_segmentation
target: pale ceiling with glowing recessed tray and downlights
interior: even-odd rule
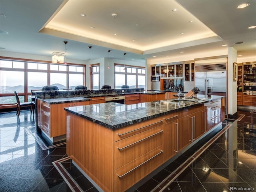
[[[236,9],[243,2],[250,6]],[[65,52],[66,40],[67,60],[108,57],[111,50],[116,59],[126,52],[127,60],[176,62],[234,47],[255,61],[256,28],[248,29],[255,11],[255,0],[0,0],[0,30],[8,32],[0,33],[0,51],[51,56]]]

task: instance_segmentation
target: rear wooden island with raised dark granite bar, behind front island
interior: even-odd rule
[[[66,139],[65,107],[105,103],[108,102],[106,98],[110,98],[110,100],[112,98],[122,98],[119,102],[125,104],[136,104],[165,98],[165,93],[163,92],[144,91],[143,88],[55,90],[34,91],[34,93],[36,94],[37,130],[42,133],[42,137],[49,144]],[[116,100],[115,102],[118,101]]]

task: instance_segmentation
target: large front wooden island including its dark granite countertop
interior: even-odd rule
[[[122,192],[220,126],[224,97],[65,110],[67,154],[73,164],[98,190]]]

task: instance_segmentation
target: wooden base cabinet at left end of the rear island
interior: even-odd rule
[[[88,105],[89,101],[68,102],[60,104],[47,104],[38,100],[39,115],[37,124],[39,128],[50,138],[66,134],[66,111],[65,107]]]

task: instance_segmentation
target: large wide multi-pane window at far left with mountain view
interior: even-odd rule
[[[56,84],[60,90],[85,85],[85,66],[0,59],[0,104],[27,102],[31,89]]]

